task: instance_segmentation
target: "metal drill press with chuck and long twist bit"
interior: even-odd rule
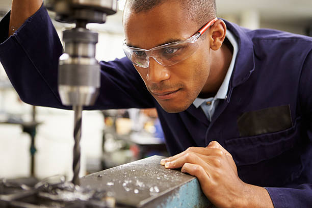
[[[73,179],[80,185],[80,139],[82,110],[94,104],[100,87],[100,66],[95,59],[98,34],[86,29],[87,23],[105,23],[117,11],[117,0],[49,0],[46,7],[56,12],[55,19],[75,23],[63,32],[65,53],[59,60],[58,85],[63,105],[74,110]]]

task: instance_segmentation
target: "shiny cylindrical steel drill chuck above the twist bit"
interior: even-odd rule
[[[65,54],[59,63],[59,92],[63,105],[91,106],[100,87],[100,66],[95,59],[98,34],[84,28],[63,32]]]

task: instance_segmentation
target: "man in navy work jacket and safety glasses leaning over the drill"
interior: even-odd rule
[[[0,22],[0,61],[23,101],[68,109],[42,1],[16,2]],[[213,0],[128,0],[132,62],[100,62],[92,109],[157,108],[175,154],[161,164],[195,175],[217,207],[310,207],[312,39],[215,18]]]

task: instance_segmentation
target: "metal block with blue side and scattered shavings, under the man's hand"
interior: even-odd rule
[[[160,165],[152,157],[103,170],[81,178],[81,186],[106,190],[117,207],[208,207],[211,202],[198,179]]]

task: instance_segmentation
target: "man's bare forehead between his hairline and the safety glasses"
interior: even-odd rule
[[[173,6],[166,3],[139,13],[126,8],[123,26],[127,45],[150,49],[193,35],[197,30],[195,22]]]

